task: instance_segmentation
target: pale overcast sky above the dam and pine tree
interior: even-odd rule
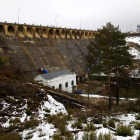
[[[19,10],[20,9],[20,10]],[[140,0],[0,0],[0,22],[97,30],[107,22],[136,31]]]

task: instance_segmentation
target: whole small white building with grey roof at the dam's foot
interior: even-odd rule
[[[46,74],[40,74],[34,78],[35,81],[55,89],[62,89],[72,93],[73,86],[76,86],[76,74],[69,70],[61,70]]]

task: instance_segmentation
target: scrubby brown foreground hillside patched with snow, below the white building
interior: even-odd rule
[[[49,88],[37,83],[0,76],[0,85],[1,140],[85,140],[87,135],[96,140],[100,135],[110,140],[136,140],[139,136],[139,100],[121,99],[119,107],[108,110],[107,97],[90,96],[90,101],[102,98],[98,106],[66,110],[47,92]],[[119,124],[131,125],[133,131],[119,134]]]

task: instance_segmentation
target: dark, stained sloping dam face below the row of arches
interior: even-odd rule
[[[10,57],[10,63],[25,71],[44,67],[48,71],[86,69],[87,44],[90,39],[19,38],[0,35],[0,54]]]

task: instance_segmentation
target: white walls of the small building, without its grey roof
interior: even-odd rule
[[[62,90],[67,91],[69,93],[72,93],[72,87],[76,86],[76,74],[69,74],[64,76],[59,76],[57,78],[54,78],[52,80],[44,80],[40,76],[35,77],[36,81],[40,81],[39,83],[42,83],[44,86],[54,87],[55,89],[59,89],[59,85],[62,85]],[[71,82],[74,81],[74,84],[72,86]],[[68,82],[68,87],[66,87],[66,82]]]

